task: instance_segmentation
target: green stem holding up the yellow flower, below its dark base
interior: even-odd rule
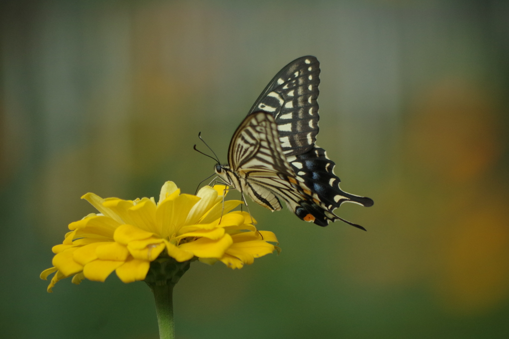
[[[173,287],[174,284],[151,285],[156,299],[157,323],[160,339],[175,339],[173,322]]]

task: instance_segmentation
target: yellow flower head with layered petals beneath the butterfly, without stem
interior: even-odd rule
[[[115,271],[124,283],[144,280],[150,262],[169,256],[177,262],[199,259],[221,261],[235,269],[279,248],[272,232],[258,231],[246,212],[230,212],[241,201],[223,201],[225,186],[205,186],[196,195],[180,194],[168,181],[156,204],[153,197],[134,201],[82,196],[100,213],[69,224],[61,245],[53,246],[51,267],[42,279],[56,272],[48,286],[73,276],[79,284],[87,278],[104,281]]]

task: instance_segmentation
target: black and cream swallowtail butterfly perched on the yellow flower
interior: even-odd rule
[[[300,219],[327,226],[342,220],[333,210],[345,202],[369,207],[369,197],[341,190],[335,163],[316,146],[320,63],[302,56],[282,68],[254,102],[233,134],[228,164],[215,173],[271,211],[281,200]]]

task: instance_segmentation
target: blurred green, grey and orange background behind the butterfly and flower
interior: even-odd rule
[[[225,161],[306,54],[318,144],[375,201],[336,213],[368,232],[251,204],[281,255],[193,263],[178,337],[509,337],[508,2],[3,1],[0,20],[2,338],[157,338],[144,283],[46,293],[51,246],[94,211],[86,192],[194,193],[214,166],[198,132]]]

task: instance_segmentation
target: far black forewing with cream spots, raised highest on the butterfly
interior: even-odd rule
[[[282,68],[249,110],[275,118],[281,148],[287,156],[309,151],[318,134],[320,63],[302,56]]]

